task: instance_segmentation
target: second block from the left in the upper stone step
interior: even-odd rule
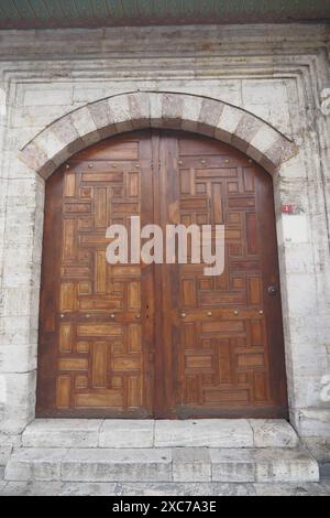
[[[154,421],[109,419],[100,429],[100,447],[152,447]]]

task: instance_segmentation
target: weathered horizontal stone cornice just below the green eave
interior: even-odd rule
[[[262,47],[260,46],[262,42]],[[222,53],[292,53],[330,45],[329,24],[187,25],[0,31],[0,60],[72,60],[94,55],[175,57]]]

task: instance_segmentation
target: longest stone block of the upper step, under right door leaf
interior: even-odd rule
[[[156,421],[155,446],[252,447],[248,420]]]

